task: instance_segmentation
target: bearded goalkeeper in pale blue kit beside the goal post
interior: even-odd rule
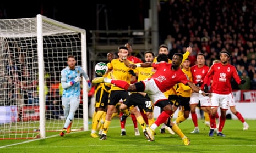
[[[89,80],[88,75],[81,66],[75,66],[77,63],[75,56],[68,55],[67,63],[68,66],[61,71],[61,85],[63,88],[62,107],[64,110],[64,117],[66,118],[62,132],[59,133],[61,136],[71,132],[75,111],[77,111],[80,103],[81,75],[88,82],[88,91],[91,89],[91,81]]]

